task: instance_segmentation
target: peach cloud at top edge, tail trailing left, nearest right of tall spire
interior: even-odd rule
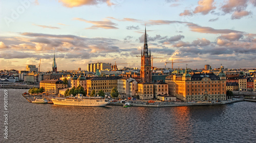
[[[203,15],[206,15],[214,9],[216,9],[214,6],[214,0],[200,0],[198,1],[198,6],[194,11],[184,10],[183,13],[180,13],[180,16],[193,15],[196,13],[202,13]]]

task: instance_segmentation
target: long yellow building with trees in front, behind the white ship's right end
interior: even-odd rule
[[[87,79],[87,96],[90,96],[93,90],[95,90],[96,93],[102,90],[105,95],[110,96],[111,90],[117,88],[117,80],[120,78],[122,77],[93,77]]]

